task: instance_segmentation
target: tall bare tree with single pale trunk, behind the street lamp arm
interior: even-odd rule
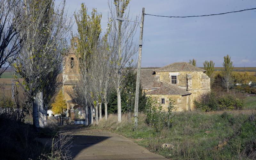
[[[113,85],[117,92],[117,116],[118,122],[121,122],[121,91],[125,78],[124,69],[128,67],[128,63],[133,61],[134,55],[138,51],[137,43],[134,41],[134,35],[138,27],[137,23],[129,23],[128,21],[118,21],[116,18],[130,19],[129,10],[127,9],[129,0],[114,0],[114,3],[108,3],[110,9],[110,20],[112,27],[108,36],[108,43],[111,52],[111,67]],[[138,17],[134,21],[138,21]],[[129,63],[132,64],[132,63]]]

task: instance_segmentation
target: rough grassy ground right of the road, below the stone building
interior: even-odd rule
[[[116,115],[109,115],[107,121],[103,118],[98,126],[91,127],[132,138],[139,145],[171,159],[244,159],[248,158],[244,151],[247,144],[252,146],[256,138],[254,124],[247,122],[250,114],[248,110],[179,112],[175,114],[172,128],[161,132],[154,132],[145,123],[143,113],[139,115],[139,127],[135,131],[127,114],[119,124]],[[222,148],[224,141],[228,143]],[[172,144],[173,148],[163,149],[164,143]]]

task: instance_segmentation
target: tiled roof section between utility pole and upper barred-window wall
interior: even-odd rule
[[[159,88],[161,83],[157,81],[158,77],[153,75],[154,69],[140,70],[140,84],[142,88]]]

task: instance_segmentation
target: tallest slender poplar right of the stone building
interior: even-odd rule
[[[228,92],[232,84],[232,72],[234,69],[233,62],[230,60],[229,55],[224,56],[224,62],[222,63],[222,66],[224,67],[224,69],[222,70],[223,84]]]

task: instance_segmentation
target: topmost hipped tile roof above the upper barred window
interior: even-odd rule
[[[162,68],[155,69],[156,72],[176,72],[176,71],[205,71],[204,69],[197,68],[188,62],[175,62],[164,66]]]

